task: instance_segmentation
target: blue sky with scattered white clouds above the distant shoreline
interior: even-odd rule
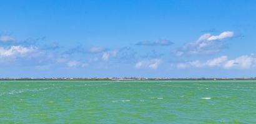
[[[256,77],[253,0],[0,2],[0,78]]]

